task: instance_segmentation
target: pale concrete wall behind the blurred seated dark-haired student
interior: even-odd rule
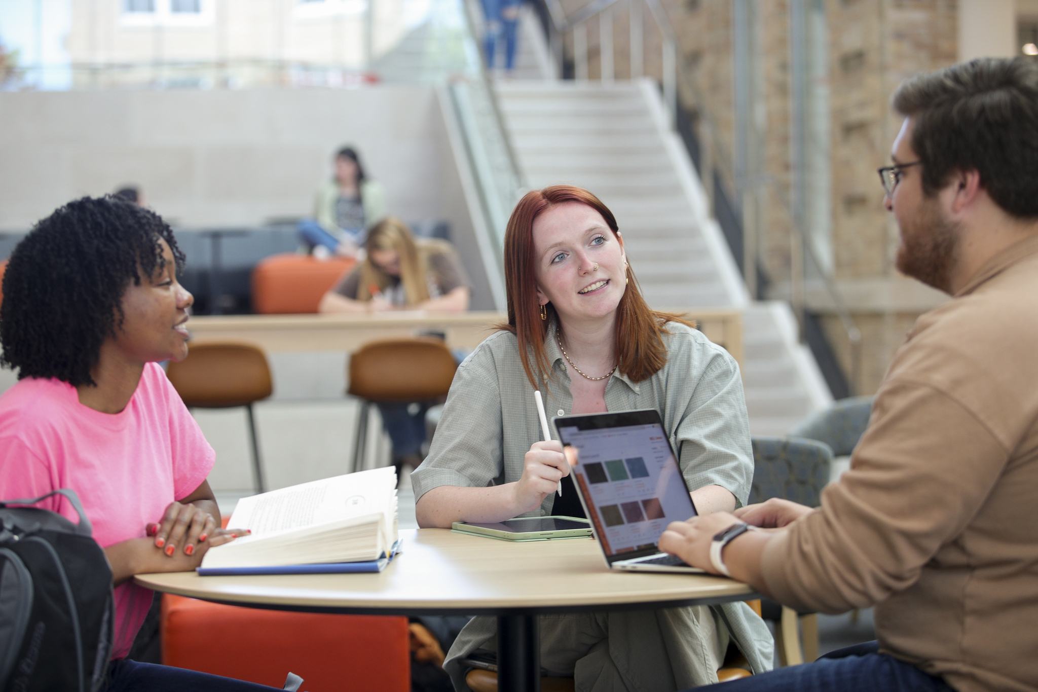
[[[307,215],[344,143],[360,148],[390,213],[435,218],[441,133],[421,86],[0,93],[0,229],[125,183],[187,226]]]

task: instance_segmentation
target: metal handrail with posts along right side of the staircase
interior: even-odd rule
[[[603,12],[609,10],[613,5],[616,5],[619,0],[592,0],[586,5],[578,9],[571,17],[566,16],[566,11],[563,9],[559,0],[544,0],[545,6],[548,10],[548,17],[551,19],[551,35],[549,36],[552,52],[555,59],[558,62],[558,74],[563,74],[563,62],[565,56],[562,51],[562,39],[569,32],[574,32],[574,55],[573,60],[575,64],[575,73],[578,79],[588,79],[588,44],[586,34],[584,33],[584,40],[577,40],[577,29],[584,29],[589,20],[598,17]],[[666,8],[659,2],[659,0],[630,0],[629,7],[631,9],[631,49],[629,51],[628,58],[631,62],[631,76],[635,76],[635,52],[637,47],[637,52],[640,54],[640,47],[643,40],[640,36],[635,36],[635,24],[637,24],[637,30],[643,30],[640,26],[640,19],[635,23],[634,8],[640,5],[645,5],[649,9],[649,13],[652,16],[654,23],[659,29],[660,35],[662,37],[662,50],[663,50],[663,62],[662,62],[662,86],[663,86],[663,99],[667,107],[667,114],[670,116],[670,126],[675,128],[678,122],[678,89],[683,88],[685,92],[690,96],[690,101],[695,104],[696,117],[700,123],[700,138],[706,140],[706,146],[703,147],[703,156],[700,160],[700,170],[701,170],[701,182],[705,188],[707,199],[710,204],[710,214],[714,213],[714,169],[719,169],[721,173],[722,181],[725,178],[732,181],[739,194],[739,198],[757,188],[759,185],[763,185],[773,192],[775,192],[775,197],[781,200],[781,203],[789,215],[791,220],[790,228],[793,229],[795,243],[790,244],[790,267],[791,267],[791,292],[790,292],[790,303],[793,307],[794,313],[797,317],[797,326],[799,330],[799,338],[801,341],[805,338],[804,324],[807,319],[807,302],[803,295],[803,284],[807,278],[807,271],[804,269],[804,262],[798,261],[795,254],[796,251],[802,253],[802,255],[810,259],[810,261],[818,269],[818,273],[822,277],[822,283],[825,288],[825,293],[829,299],[829,304],[831,305],[837,317],[846,334],[847,341],[850,345],[850,377],[848,378],[849,389],[853,393],[856,388],[856,384],[861,382],[861,370],[862,370],[862,332],[854,323],[854,319],[851,316],[850,310],[847,308],[843,297],[840,294],[839,288],[832,281],[832,277],[829,276],[827,272],[822,269],[821,261],[815,251],[814,244],[808,237],[807,230],[804,230],[800,224],[795,223],[795,216],[793,215],[793,210],[790,201],[786,198],[785,193],[778,187],[777,182],[772,176],[768,175],[757,175],[749,171],[736,171],[733,170],[731,164],[732,156],[728,146],[721,141],[718,135],[718,129],[715,126],[715,120],[712,117],[709,108],[707,106],[708,101],[703,96],[702,91],[695,86],[695,83],[691,80],[685,70],[682,67],[681,63],[677,59],[678,49],[681,46],[681,41],[678,38],[676,32],[674,31],[674,22],[671,19]],[[605,24],[605,23],[602,23]],[[601,32],[600,37],[600,54],[602,56],[602,71],[600,72],[600,80],[605,81],[606,79],[612,79],[611,65],[612,65],[612,39],[611,39],[611,19],[606,24],[608,27],[608,35],[603,31],[602,24],[599,26]],[[609,57],[606,60],[605,53],[608,49]],[[640,55],[638,55],[638,60],[640,60]],[[609,73],[607,76],[604,75],[606,66],[609,67]],[[705,135],[705,136],[704,136]],[[719,156],[718,156],[719,155]],[[743,229],[744,232],[745,229]],[[746,255],[743,258],[743,271],[745,273],[745,280],[748,286],[756,286],[757,284],[757,266],[758,266],[758,252],[757,252],[757,242],[756,238],[750,239],[745,242]],[[793,268],[799,267],[799,272],[796,272]],[[755,292],[756,293],[756,292]]]

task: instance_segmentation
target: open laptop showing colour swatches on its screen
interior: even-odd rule
[[[552,422],[563,444],[580,452],[571,469],[573,486],[606,564],[702,574],[659,550],[667,524],[698,514],[659,413],[557,416]]]

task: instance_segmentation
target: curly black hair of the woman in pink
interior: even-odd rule
[[[165,267],[159,239],[184,253],[158,214],[115,197],[58,207],[15,248],[3,277],[0,365],[22,378],[97,385],[101,344],[122,327],[122,295]]]

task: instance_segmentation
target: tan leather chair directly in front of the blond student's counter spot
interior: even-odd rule
[[[429,402],[447,395],[458,363],[446,344],[431,336],[370,341],[349,360],[347,393],[361,399],[352,470],[363,465],[372,404]]]

